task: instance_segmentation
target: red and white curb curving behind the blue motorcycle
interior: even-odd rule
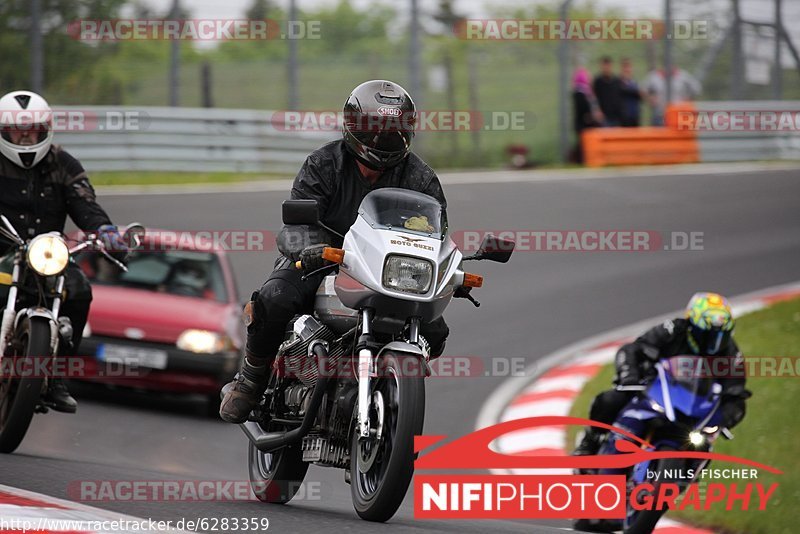
[[[730,299],[735,317],[762,309],[769,304],[800,296],[800,282],[774,286]],[[504,382],[492,393],[478,416],[476,428],[485,428],[504,421],[544,415],[569,415],[572,404],[584,385],[600,369],[614,360],[620,345],[635,339],[645,329],[666,319],[680,316],[672,313],[640,321],[569,345],[537,361],[523,376]],[[493,444],[498,452],[519,456],[566,456],[571,446],[566,443],[563,426],[538,427],[509,432]],[[501,474],[570,474],[569,469],[494,470]],[[681,525],[667,518],[658,523],[659,534],[710,534],[708,530]]]

